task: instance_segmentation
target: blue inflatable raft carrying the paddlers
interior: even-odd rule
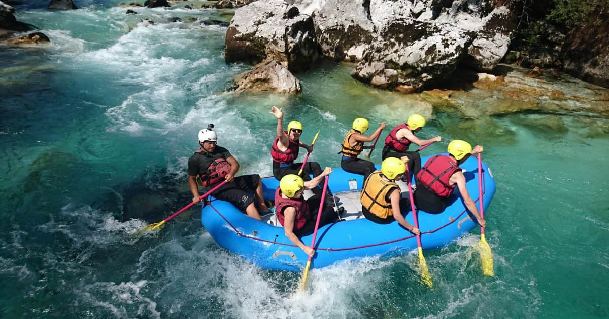
[[[423,157],[425,163],[429,157]],[[472,156],[460,165],[467,180],[467,190],[476,205],[479,201],[477,159]],[[379,168],[379,165],[377,165]],[[485,213],[495,194],[495,180],[490,168],[482,163],[482,196]],[[312,268],[321,268],[348,258],[365,256],[394,256],[417,249],[417,238],[398,222],[381,225],[368,221],[361,213],[359,194],[363,176],[335,169],[329,175],[328,187],[340,197],[340,206],[345,207],[343,221],[320,227],[315,243],[316,254]],[[279,181],[274,177],[262,179],[265,199],[274,199]],[[400,182],[403,197],[408,197],[406,184]],[[477,224],[466,210],[458,190],[452,194],[452,204],[440,214],[418,211],[423,249],[436,249],[448,245]],[[410,207],[403,207],[406,220],[414,225]],[[283,227],[275,214],[262,216],[263,221],[248,218],[232,204],[211,198],[202,210],[203,227],[220,246],[252,261],[263,269],[300,272],[308,256],[284,235]],[[305,245],[311,244],[312,235],[301,238]]]

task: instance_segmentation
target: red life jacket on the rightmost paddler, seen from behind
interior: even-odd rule
[[[436,155],[429,159],[418,172],[417,186],[423,185],[440,197],[451,196],[457,184],[450,185],[449,180],[456,171],[461,171],[461,168],[450,157]]]

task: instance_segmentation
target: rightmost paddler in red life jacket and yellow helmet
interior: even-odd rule
[[[431,214],[442,213],[452,191],[458,187],[465,207],[474,214],[478,224],[485,227],[486,222],[478,213],[476,203],[465,186],[465,176],[459,168],[470,156],[482,151],[484,148],[480,145],[472,149],[470,143],[464,140],[453,140],[448,144],[448,156],[440,154],[428,159],[415,176],[417,190],[414,200],[417,208]]]

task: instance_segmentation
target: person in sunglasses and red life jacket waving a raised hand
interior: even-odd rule
[[[283,109],[273,106],[270,109],[270,114],[275,115],[277,118],[277,137],[273,140],[273,145],[270,150],[270,155],[273,158],[273,176],[275,176],[277,180],[281,180],[282,177],[288,174],[298,174],[300,166],[303,165],[302,162],[295,163],[300,148],[305,148],[308,152],[312,152],[313,146],[300,142],[300,135],[303,132],[302,123],[292,121],[287,124],[287,131],[284,131]],[[313,174],[313,176],[322,174],[322,166],[317,162],[307,161],[301,177],[305,181],[311,180],[311,174]],[[322,196],[322,189],[319,187],[314,187],[311,191],[317,196]],[[331,191],[328,190],[326,202],[330,204],[334,201],[338,202],[339,198],[332,196]]]

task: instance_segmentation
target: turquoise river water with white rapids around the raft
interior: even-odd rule
[[[512,83],[566,98],[496,113],[485,110],[511,105],[505,91],[473,88],[452,95],[460,111],[451,111],[323,63],[298,75],[301,95],[235,95],[225,89],[250,66],[225,64],[225,27],[194,21],[228,21],[231,11],[186,3],[200,2],[137,15],[118,1],[76,1],[82,9],[67,12],[16,5],[52,43],[0,48],[0,318],[609,317],[607,89],[504,66]],[[241,173],[269,176],[272,105],[303,122],[305,141],[321,129],[311,159],[322,165],[339,165],[355,117],[375,128],[426,115],[420,136],[443,141],[425,154],[451,139],[484,145],[497,183],[485,212],[496,276],[482,276],[472,255],[477,228],[425,252],[434,290],[412,252],[312,269],[309,289],[295,292],[299,273],[219,247],[200,207],[156,235],[130,235],[189,203],[186,163],[206,123]]]

